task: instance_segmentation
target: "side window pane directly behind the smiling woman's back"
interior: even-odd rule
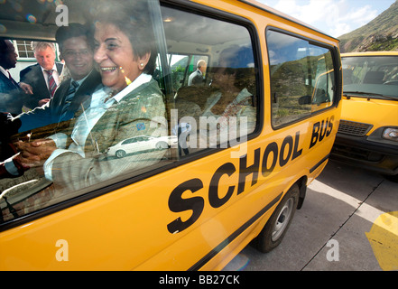
[[[179,157],[227,148],[253,133],[257,70],[249,30],[166,6],[162,17],[175,106],[171,133],[179,136]]]

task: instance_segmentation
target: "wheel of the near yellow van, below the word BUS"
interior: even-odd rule
[[[299,186],[294,184],[273,211],[273,215],[268,219],[260,235],[255,238],[255,247],[260,252],[270,252],[281,244],[282,238],[292,223],[299,196]]]

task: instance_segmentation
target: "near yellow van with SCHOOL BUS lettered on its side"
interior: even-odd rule
[[[55,115],[32,127],[46,106],[61,105],[68,78],[49,104],[6,118],[7,125],[22,123],[4,144],[19,151],[11,162],[24,165],[11,177],[7,164],[0,180],[1,270],[220,270],[249,243],[268,252],[282,242],[338,131],[337,39],[255,1],[22,1],[20,11],[10,2],[0,8],[5,39],[54,42],[65,22],[94,24],[102,78],[69,121]],[[96,18],[102,8],[120,13]],[[137,59],[116,61],[124,37],[134,37],[131,25],[143,22],[156,60],[145,73],[152,79],[142,82],[155,80],[162,96],[122,96],[138,86],[126,78],[79,143],[79,124],[94,119],[109,76]],[[104,27],[113,28],[106,52]],[[66,49],[64,42],[61,54],[89,54]],[[102,65],[111,53],[120,70]],[[75,63],[65,61],[74,79]],[[58,143],[60,134],[69,146]],[[50,156],[27,163],[32,147],[50,144]],[[10,155],[2,155],[5,163]]]

